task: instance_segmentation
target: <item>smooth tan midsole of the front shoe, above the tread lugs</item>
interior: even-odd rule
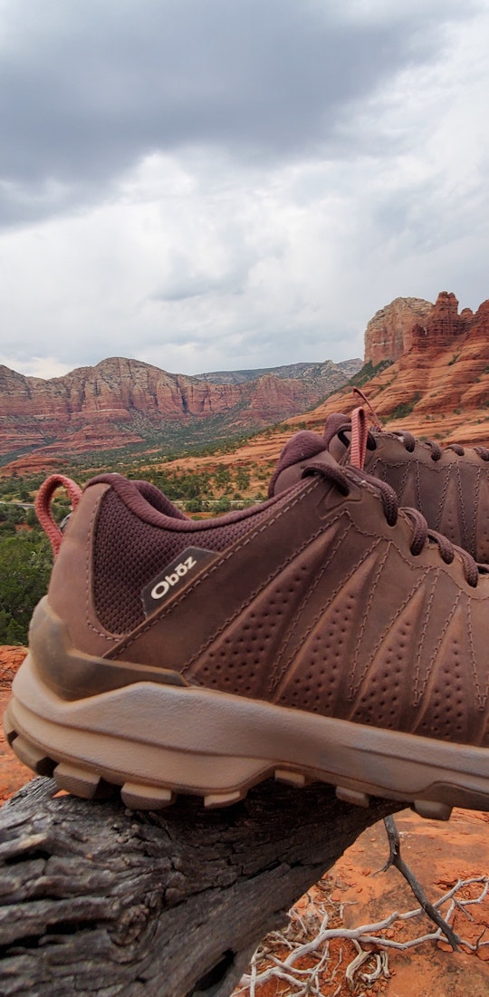
[[[251,784],[274,767],[411,800],[444,784],[489,807],[489,750],[379,730],[195,687],[141,682],[67,702],[30,656],[13,684],[18,733],[117,782],[190,791]]]

